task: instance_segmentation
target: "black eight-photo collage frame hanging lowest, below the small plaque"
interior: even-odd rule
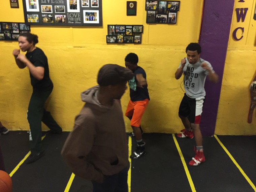
[[[143,25],[107,25],[107,43],[141,43]]]

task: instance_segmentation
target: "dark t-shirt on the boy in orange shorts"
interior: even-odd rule
[[[136,74],[142,74],[142,76],[147,79],[147,75],[144,69],[137,67],[134,71],[134,77],[128,81],[130,87],[130,98],[132,101],[142,101],[144,99],[149,99],[148,85],[143,86],[143,88],[137,87]]]

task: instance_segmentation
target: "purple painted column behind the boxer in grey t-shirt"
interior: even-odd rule
[[[234,0],[204,0],[200,57],[212,64],[219,82],[214,84],[206,78],[206,99],[200,123],[203,136],[212,136],[215,131],[233,7]]]

